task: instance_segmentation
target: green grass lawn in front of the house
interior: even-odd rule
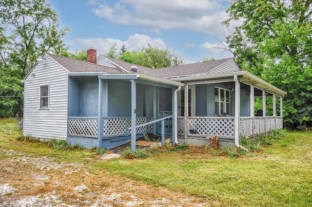
[[[54,156],[62,162],[84,162],[90,170],[108,170],[146,184],[208,200],[212,207],[312,207],[312,132],[287,132],[280,139],[250,143],[252,153],[233,149],[192,150],[182,145],[151,150],[145,159],[98,162],[90,150],[60,151],[46,143],[19,141],[14,123],[0,121],[0,148]],[[5,123],[5,124],[4,124]],[[9,133],[9,135],[7,134]],[[196,149],[196,148],[195,148]],[[225,152],[222,152],[225,151]],[[235,156],[234,156],[235,157]]]

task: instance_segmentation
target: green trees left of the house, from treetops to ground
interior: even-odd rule
[[[21,80],[44,52],[67,50],[67,31],[45,0],[0,1],[0,117],[22,114]]]

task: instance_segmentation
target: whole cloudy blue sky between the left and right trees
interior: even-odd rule
[[[221,21],[230,0],[47,0],[71,32],[70,51],[94,48],[105,54],[116,42],[130,51],[147,43],[175,50],[193,63],[205,57],[231,57],[215,49],[227,29]],[[224,38],[223,38],[224,40]]]

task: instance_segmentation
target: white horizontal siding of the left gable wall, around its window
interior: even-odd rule
[[[25,78],[23,134],[36,138],[67,137],[67,71],[49,56]],[[40,109],[40,89],[48,86],[48,108]]]

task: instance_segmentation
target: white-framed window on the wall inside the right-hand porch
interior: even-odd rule
[[[231,115],[230,90],[215,87],[215,115]]]

